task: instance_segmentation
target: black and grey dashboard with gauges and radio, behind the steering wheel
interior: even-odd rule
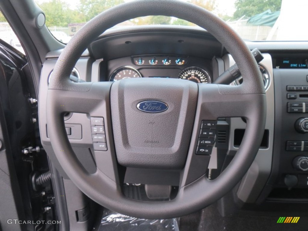
[[[266,90],[267,117],[257,156],[233,195],[245,204],[308,201],[308,197],[303,196],[308,190],[307,43],[247,41],[246,44],[251,50],[258,48],[264,56],[259,67]],[[60,53],[61,50],[47,54],[41,76],[41,101],[46,100],[48,79]],[[203,84],[212,83],[233,64],[235,61],[228,51],[205,30],[183,26],[140,26],[106,31],[89,45],[72,75],[88,82],[178,78]],[[242,81],[240,77],[232,84]],[[41,139],[49,157],[57,163],[47,135],[44,105],[40,105],[39,110],[43,115],[40,118]],[[82,162],[89,150],[80,147],[79,143],[81,140],[87,142],[83,140],[85,134],[91,134],[89,118],[70,113],[64,120],[66,127],[72,128],[68,138]],[[213,177],[219,175],[225,163],[236,155],[246,123],[242,118],[220,118],[217,126],[220,132],[217,153],[221,159],[218,159],[217,169],[213,170]],[[92,140],[88,143],[91,145]],[[55,165],[66,177],[60,165]],[[92,167],[85,166],[89,172]],[[125,180],[129,182],[129,174],[142,176],[143,172],[128,169],[127,174]]]

